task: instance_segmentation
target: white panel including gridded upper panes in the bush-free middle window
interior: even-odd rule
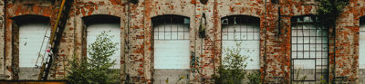
[[[165,23],[154,29],[154,69],[189,69],[189,25]]]

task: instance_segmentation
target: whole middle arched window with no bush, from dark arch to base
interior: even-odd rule
[[[189,83],[190,20],[178,15],[152,18],[154,50],[154,83]]]

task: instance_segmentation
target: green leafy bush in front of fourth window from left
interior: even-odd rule
[[[235,42],[234,48],[224,49],[219,75],[214,74],[215,84],[241,84],[245,79],[248,57],[241,54],[241,42]]]

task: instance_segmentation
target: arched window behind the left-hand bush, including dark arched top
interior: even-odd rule
[[[110,59],[116,61],[116,64],[111,69],[120,69],[120,17],[98,14],[83,17],[83,20],[87,27],[87,47],[95,42],[97,36],[103,32],[113,36],[111,42],[119,43],[116,46],[118,50],[114,52]]]

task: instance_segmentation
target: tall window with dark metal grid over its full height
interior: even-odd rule
[[[316,16],[291,19],[291,77],[293,82],[328,79],[328,28]]]

